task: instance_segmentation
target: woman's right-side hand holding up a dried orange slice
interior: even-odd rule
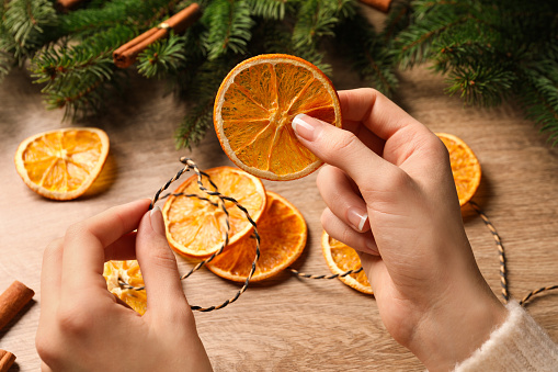
[[[503,323],[463,226],[449,158],[424,125],[372,89],[339,92],[344,129],[299,115],[323,228],[360,251],[382,319],[430,370],[449,370]]]

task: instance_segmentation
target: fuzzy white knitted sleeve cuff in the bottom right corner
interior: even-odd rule
[[[488,341],[455,372],[469,371],[558,371],[558,345],[515,301],[510,314]]]

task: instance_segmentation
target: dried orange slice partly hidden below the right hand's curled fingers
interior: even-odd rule
[[[321,249],[329,269],[334,274],[357,270],[361,267],[361,258],[356,251],[344,243],[333,239],[326,232],[321,235]],[[339,279],[356,291],[373,294],[371,283],[364,271],[339,277]]]

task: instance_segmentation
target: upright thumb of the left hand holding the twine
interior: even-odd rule
[[[164,236],[164,222],[158,206],[147,212],[139,223],[136,256],[146,283],[148,312],[171,313],[173,309],[183,309],[181,303],[189,307],[176,259]]]

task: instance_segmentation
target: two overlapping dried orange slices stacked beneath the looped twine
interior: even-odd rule
[[[306,246],[307,227],[293,204],[276,193],[265,191],[259,178],[241,169],[218,167],[205,173],[213,182],[203,178],[205,188],[234,198],[258,225],[261,255],[251,281],[275,275],[300,256]],[[255,257],[253,228],[231,201],[225,200],[225,207],[230,229],[218,196],[205,195],[198,189],[197,176],[192,176],[169,196],[162,210],[167,239],[178,253],[205,259],[219,250],[228,232],[228,246],[206,267],[219,277],[243,282]]]

